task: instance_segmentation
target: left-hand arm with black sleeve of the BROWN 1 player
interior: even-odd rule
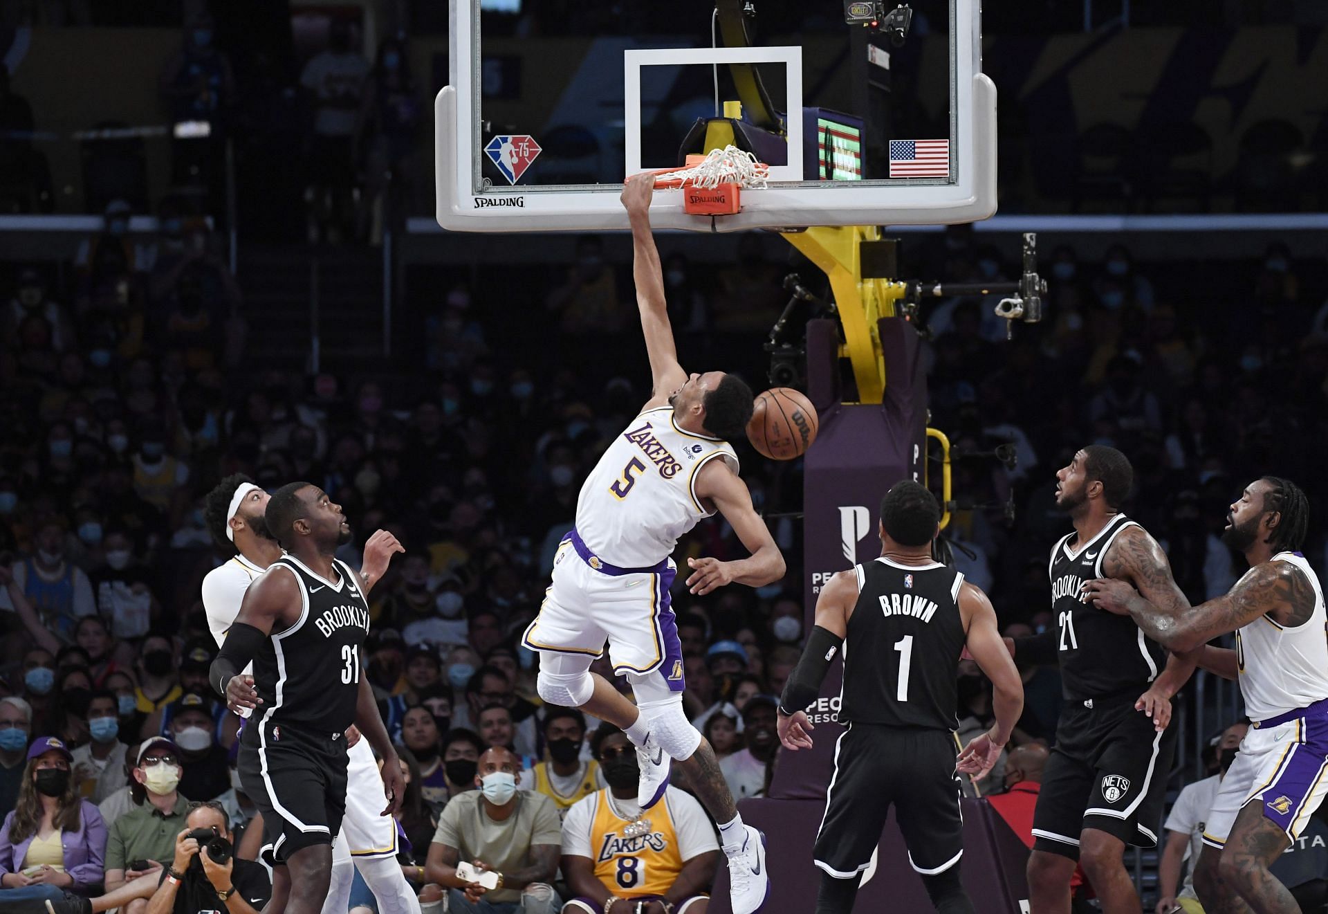
[[[802,648],[798,666],[789,674],[780,696],[780,715],[776,727],[786,749],[811,748],[811,731],[806,708],[817,700],[821,684],[830,670],[830,662],[843,646],[849,634],[849,614],[858,602],[858,574],[853,570],[835,573],[817,596],[817,616]]]

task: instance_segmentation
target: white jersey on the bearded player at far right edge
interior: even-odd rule
[[[1289,562],[1309,579],[1315,612],[1295,628],[1259,616],[1236,630],[1240,695],[1251,720],[1267,720],[1328,699],[1328,618],[1319,578],[1295,553],[1278,553],[1271,561]]]

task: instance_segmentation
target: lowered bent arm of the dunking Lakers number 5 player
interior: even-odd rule
[[[738,534],[738,539],[752,553],[750,558],[721,562],[717,558],[689,558],[692,574],[687,578],[693,594],[709,594],[716,587],[740,583],[764,587],[784,577],[784,554],[770,535],[770,529],[752,506],[752,493],[746,484],[722,460],[706,462],[696,478],[696,494],[714,507]]]

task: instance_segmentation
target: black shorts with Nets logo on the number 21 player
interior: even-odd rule
[[[1065,704],[1033,813],[1035,850],[1078,860],[1086,828],[1157,846],[1177,731],[1154,731],[1151,717],[1134,709],[1137,699]]]

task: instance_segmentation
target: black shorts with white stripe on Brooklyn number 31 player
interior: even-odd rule
[[[263,813],[263,838],[278,864],[332,844],[345,814],[345,737],[260,721],[244,727],[240,786]]]

